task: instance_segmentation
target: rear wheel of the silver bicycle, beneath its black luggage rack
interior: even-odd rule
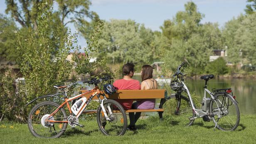
[[[240,112],[236,101],[227,93],[217,94],[214,97],[215,100],[211,100],[209,107],[214,124],[223,131],[235,130],[240,121]]]

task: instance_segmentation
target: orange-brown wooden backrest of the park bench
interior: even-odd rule
[[[84,93],[85,90],[80,90],[80,93]],[[105,94],[108,99],[155,99],[155,98],[165,98],[167,96],[166,90],[118,90],[117,93],[113,95]],[[88,99],[91,93],[85,95]],[[103,97],[101,97],[102,99]],[[95,96],[93,100],[98,100]]]

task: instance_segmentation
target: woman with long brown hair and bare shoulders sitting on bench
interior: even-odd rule
[[[153,78],[153,67],[150,65],[144,65],[141,70],[141,90],[152,90],[158,88],[157,81]],[[132,109],[154,109],[155,108],[155,99],[143,99],[133,103]],[[141,112],[129,112],[130,125],[128,126],[129,130],[136,130],[135,123],[140,117]]]

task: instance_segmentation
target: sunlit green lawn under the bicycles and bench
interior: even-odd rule
[[[256,115],[241,115],[239,127],[234,132],[223,132],[214,129],[213,122],[195,120],[190,127],[184,127],[175,122],[172,117],[166,117],[159,122],[157,116],[146,120],[138,120],[138,130],[126,131],[123,136],[107,137],[98,129],[96,120],[82,121],[84,128],[67,129],[57,139],[39,139],[33,137],[27,124],[11,122],[0,123],[1,144],[9,143],[41,143],[41,144],[72,144],[72,143],[255,143]]]

